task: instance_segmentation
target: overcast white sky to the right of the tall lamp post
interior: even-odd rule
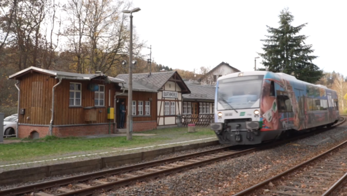
[[[289,7],[293,25],[308,23],[313,62],[324,71],[347,75],[347,1],[344,0],[133,0],[139,37],[152,45],[155,62],[193,70],[227,62],[241,71],[254,69],[266,25],[279,26],[280,11]],[[143,54],[149,54],[144,49]],[[257,67],[261,66],[257,59]]]

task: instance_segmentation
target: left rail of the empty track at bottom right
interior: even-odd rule
[[[345,117],[341,117],[341,118],[343,118],[344,120],[341,121],[338,124],[335,124],[334,127],[336,127],[336,126],[338,126],[338,125],[340,125],[340,124],[342,124],[342,123],[344,123],[346,121]],[[322,157],[322,156],[324,156],[324,155],[326,155],[326,154],[328,154],[328,153],[330,153],[330,152],[340,148],[341,146],[343,146],[345,144],[347,144],[347,140],[344,141],[343,143],[341,143],[341,144],[339,144],[339,145],[337,145],[337,146],[335,146],[335,147],[333,147],[333,148],[331,148],[331,149],[329,149],[329,150],[327,150],[327,151],[325,151],[325,152],[323,152],[323,153],[321,153],[321,154],[319,154],[319,155],[317,155],[317,156],[315,156],[315,157],[313,157],[313,158],[311,158],[311,159],[309,159],[309,160],[299,164],[299,165],[296,165],[296,166],[290,168],[289,170],[286,170],[286,171],[284,171],[284,172],[282,172],[282,173],[280,173],[280,174],[278,174],[278,175],[276,175],[276,176],[274,176],[272,178],[269,178],[269,179],[267,179],[267,180],[265,180],[263,182],[260,182],[260,183],[258,183],[256,185],[254,185],[252,187],[249,187],[249,188],[247,188],[247,189],[245,189],[245,190],[243,190],[241,192],[238,192],[238,193],[236,193],[236,194],[234,194],[232,196],[245,196],[246,194],[250,194],[251,192],[253,192],[253,191],[255,191],[255,190],[257,190],[257,189],[259,189],[259,188],[261,188],[261,187],[263,187],[263,186],[265,186],[267,184],[269,184],[270,182],[280,179],[281,177],[289,174],[290,172],[293,172],[293,171],[301,168],[302,166],[305,166],[305,165],[307,165],[307,164],[317,160],[318,158],[320,158],[320,157]]]

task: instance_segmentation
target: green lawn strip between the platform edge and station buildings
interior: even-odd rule
[[[188,133],[187,130],[187,128],[171,128],[142,131],[140,133],[156,135],[133,136],[132,140],[126,140],[125,136],[99,138],[57,138],[48,136],[38,140],[23,139],[23,141],[29,142],[1,144],[0,162],[28,159],[35,160],[35,157],[41,160],[42,157],[50,155],[64,155],[74,152],[79,152],[77,154],[81,154],[81,152],[93,153],[97,151],[114,151],[116,150],[115,148],[125,149],[215,136],[215,133],[209,128],[197,128],[197,132],[195,133]]]

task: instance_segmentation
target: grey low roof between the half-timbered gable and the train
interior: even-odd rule
[[[184,100],[215,100],[216,87],[214,85],[187,84],[187,86],[190,89],[191,93],[182,95]]]

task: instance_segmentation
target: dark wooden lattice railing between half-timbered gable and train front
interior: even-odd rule
[[[183,114],[182,115],[182,125],[187,127],[188,124],[195,124],[198,127],[208,127],[210,123],[214,122],[213,114]]]

